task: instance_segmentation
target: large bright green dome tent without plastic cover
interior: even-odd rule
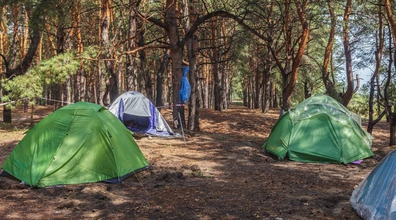
[[[30,129],[2,169],[26,184],[115,181],[148,168],[131,132],[100,105],[62,107]]]

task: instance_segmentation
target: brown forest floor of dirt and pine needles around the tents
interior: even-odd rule
[[[54,109],[36,106],[37,123]],[[170,110],[162,110],[169,121]],[[2,112],[0,111],[0,114]],[[29,188],[0,177],[1,219],[358,220],[348,203],[353,189],[378,163],[337,165],[278,161],[261,145],[279,110],[232,106],[199,110],[200,132],[183,139],[137,139],[152,169],[120,184],[87,183]],[[31,127],[30,111],[0,121],[0,165]],[[365,125],[364,125],[365,126]],[[374,129],[373,148],[392,147],[388,126]]]

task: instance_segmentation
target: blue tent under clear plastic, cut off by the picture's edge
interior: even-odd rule
[[[363,179],[349,203],[364,220],[396,220],[396,150]]]

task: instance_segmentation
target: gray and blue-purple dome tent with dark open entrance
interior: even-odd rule
[[[172,131],[151,101],[138,91],[120,95],[108,110],[132,132],[162,137],[180,135]]]

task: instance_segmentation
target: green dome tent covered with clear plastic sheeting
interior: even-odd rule
[[[315,95],[285,113],[262,147],[302,162],[347,164],[371,157],[372,137],[353,118],[335,99]]]

